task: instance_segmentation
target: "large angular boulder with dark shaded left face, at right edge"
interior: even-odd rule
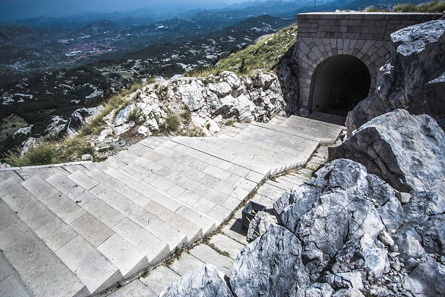
[[[444,131],[428,115],[397,109],[357,129],[329,157],[348,158],[401,192],[434,191],[445,184]]]

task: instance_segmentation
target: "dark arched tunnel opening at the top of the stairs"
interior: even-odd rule
[[[312,111],[346,117],[348,111],[368,96],[371,75],[366,65],[349,54],[322,61],[312,75],[309,94]]]

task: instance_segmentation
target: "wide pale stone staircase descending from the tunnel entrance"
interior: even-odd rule
[[[232,128],[150,137],[101,163],[0,171],[0,296],[95,295],[215,230],[343,127],[292,116]]]

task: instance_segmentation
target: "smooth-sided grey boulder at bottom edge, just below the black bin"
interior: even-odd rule
[[[237,297],[305,296],[310,287],[298,238],[272,224],[260,238],[245,246],[230,270],[230,286]]]

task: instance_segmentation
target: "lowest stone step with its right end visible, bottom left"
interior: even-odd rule
[[[0,184],[0,187],[4,186],[5,183]],[[3,199],[0,199],[0,249],[24,285],[36,296],[71,297],[88,296],[91,293],[79,277],[45,245]],[[4,271],[6,267],[1,266],[0,269]],[[16,290],[15,287],[9,289]],[[25,288],[17,290],[26,291]]]

